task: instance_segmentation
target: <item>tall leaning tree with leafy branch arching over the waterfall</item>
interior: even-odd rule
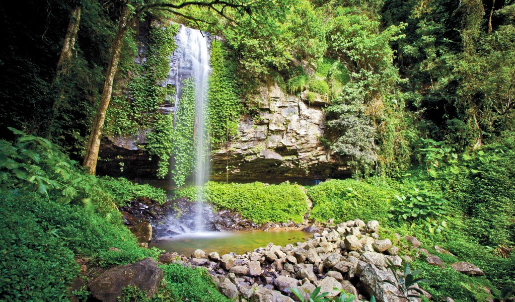
[[[188,14],[191,7],[213,10],[221,17],[231,22],[245,24],[246,27],[255,27],[263,32],[271,30],[267,25],[277,17],[285,15],[290,5],[295,0],[192,0],[177,2],[175,0],[150,1],[143,3],[141,0],[122,1],[121,13],[118,18],[118,30],[111,46],[111,60],[106,72],[104,90],[98,104],[97,113],[93,120],[91,133],[84,156],[83,166],[94,175],[100,148],[102,128],[106,119],[106,111],[109,106],[113,91],[114,76],[118,67],[118,61],[123,46],[125,34],[133,26],[134,22],[143,14],[149,12],[166,11],[176,16],[183,17],[195,23],[202,22],[193,15]]]

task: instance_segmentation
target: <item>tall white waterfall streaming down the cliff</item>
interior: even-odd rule
[[[181,82],[187,78],[193,78],[195,82],[195,122],[194,122],[194,146],[196,152],[195,186],[197,187],[197,214],[195,230],[203,229],[202,186],[209,177],[209,152],[207,134],[207,94],[208,78],[211,72],[209,64],[209,35],[198,29],[181,25],[175,37],[177,49],[170,60],[170,75],[168,82],[175,84],[177,94],[175,99],[174,123],[176,116],[181,114],[178,108],[181,96]]]

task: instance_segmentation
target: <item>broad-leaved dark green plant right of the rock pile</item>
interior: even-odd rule
[[[441,232],[447,222],[443,216],[447,214],[444,210],[444,200],[428,192],[415,188],[407,196],[395,196],[396,203],[392,203],[388,217],[406,221],[416,221],[417,224],[425,226],[429,232]]]

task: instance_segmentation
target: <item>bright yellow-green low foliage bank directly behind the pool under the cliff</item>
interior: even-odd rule
[[[176,192],[177,196],[196,199],[194,187]],[[203,188],[204,199],[217,208],[237,211],[242,217],[254,223],[301,222],[307,211],[307,198],[302,186],[282,183],[265,185],[260,182],[250,184],[223,184],[208,182]]]

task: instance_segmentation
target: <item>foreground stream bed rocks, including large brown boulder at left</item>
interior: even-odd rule
[[[394,242],[381,239],[377,221],[365,223],[356,219],[340,224],[329,221],[325,225],[309,227],[318,232],[305,242],[285,246],[269,243],[240,255],[207,254],[196,250],[186,257],[166,252],[158,261],[205,268],[219,291],[227,297],[262,302],[298,301],[291,289],[299,288],[308,298],[317,287],[321,288],[320,292],[328,292],[328,297],[335,297],[342,290],[359,300],[370,299],[373,295],[380,302],[420,301],[420,297],[400,297],[397,278],[393,274],[402,274],[401,270],[395,272],[388,266],[401,268],[404,263],[413,261],[408,256],[401,257],[400,249],[414,251],[411,255],[417,257],[423,255],[432,265],[444,266],[437,256],[420,248],[421,243],[415,237],[401,239],[397,236]],[[96,276],[89,288],[93,296],[102,301],[115,301],[126,285],[138,286],[151,296],[157,292],[163,278],[163,271],[157,264],[153,258],[147,258],[110,269]],[[479,268],[466,262],[456,262],[451,267],[468,275],[484,275]],[[423,293],[426,298],[432,298]],[[418,295],[414,291],[410,294]],[[453,299],[448,297],[447,301]]]

